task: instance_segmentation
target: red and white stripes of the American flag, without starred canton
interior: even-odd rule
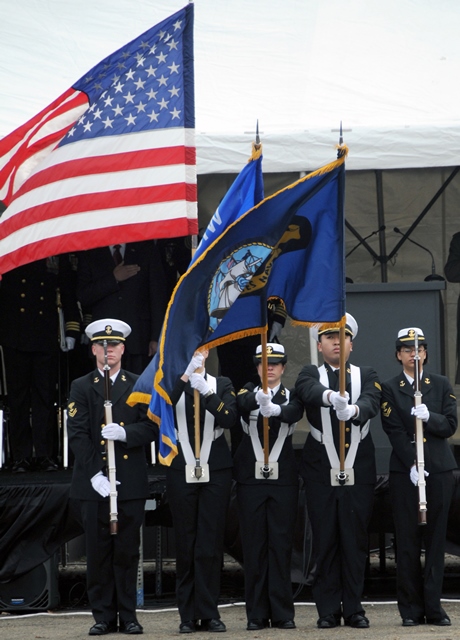
[[[56,148],[87,105],[69,90],[0,141],[0,200],[8,205],[0,274],[59,253],[198,232],[194,130]]]

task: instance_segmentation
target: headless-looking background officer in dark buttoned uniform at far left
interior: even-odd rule
[[[80,336],[67,255],[43,258],[4,273],[0,308],[12,472],[57,471],[59,348],[72,350]]]

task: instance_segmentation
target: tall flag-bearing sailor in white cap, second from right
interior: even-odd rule
[[[348,362],[357,332],[356,320],[347,313],[345,398],[338,391],[339,331],[330,325],[321,325],[317,330],[324,365],[319,369],[305,366],[295,385],[310,423],[300,473],[305,481],[313,532],[316,561],[313,597],[320,629],[340,625],[342,617],[351,627],[369,626],[361,604],[368,553],[367,527],[376,482],[369,420],[379,411],[381,389],[371,367],[355,367]],[[345,422],[348,479],[344,484],[337,480],[339,421]]]

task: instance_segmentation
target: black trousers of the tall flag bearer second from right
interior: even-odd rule
[[[319,616],[364,614],[361,596],[369,550],[374,485],[305,482],[317,570],[312,586]],[[343,606],[343,611],[342,607]]]

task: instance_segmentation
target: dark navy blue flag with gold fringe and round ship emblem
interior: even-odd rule
[[[344,178],[345,154],[241,215],[191,263],[160,340],[155,388],[167,402],[197,348],[264,331],[271,296],[295,322],[342,320]]]

